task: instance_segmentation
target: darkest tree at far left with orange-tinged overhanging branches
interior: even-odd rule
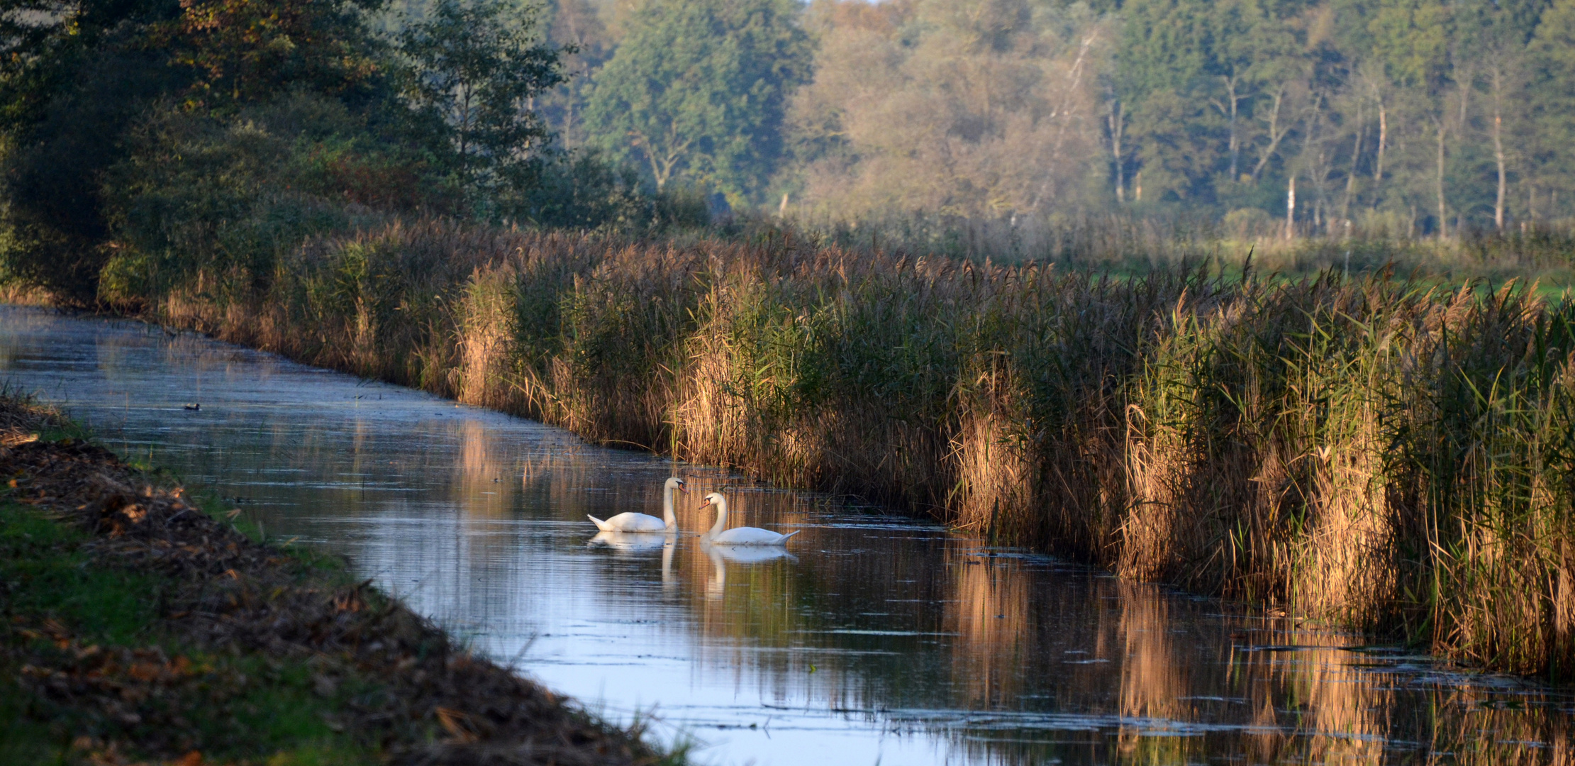
[[[342,0],[0,0],[5,270],[93,301],[110,236],[101,180],[126,128],[172,102],[370,96],[378,46],[358,14]]]

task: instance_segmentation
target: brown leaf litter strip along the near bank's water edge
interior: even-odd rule
[[[50,418],[0,397],[0,476],[11,496],[91,534],[99,561],[187,583],[162,597],[173,635],[211,651],[261,653],[318,668],[313,687],[332,697],[345,682],[375,679],[380,693],[354,697],[331,722],[380,744],[398,764],[641,764],[660,755],[639,731],[597,723],[540,686],[476,657],[369,583],[324,586],[302,564],[252,542],[181,496],[151,485],[99,446],[38,441]],[[79,741],[93,763],[131,763],[134,746],[165,763],[206,763],[192,750],[178,708],[183,684],[209,693],[247,684],[230,671],[170,657],[161,648],[83,646],[58,623],[11,626],[16,638],[54,653],[27,657],[20,682],[58,703],[85,706],[142,736],[135,742]],[[239,678],[236,678],[239,676]],[[222,697],[222,695],[220,695]],[[151,734],[150,734],[151,733]]]

